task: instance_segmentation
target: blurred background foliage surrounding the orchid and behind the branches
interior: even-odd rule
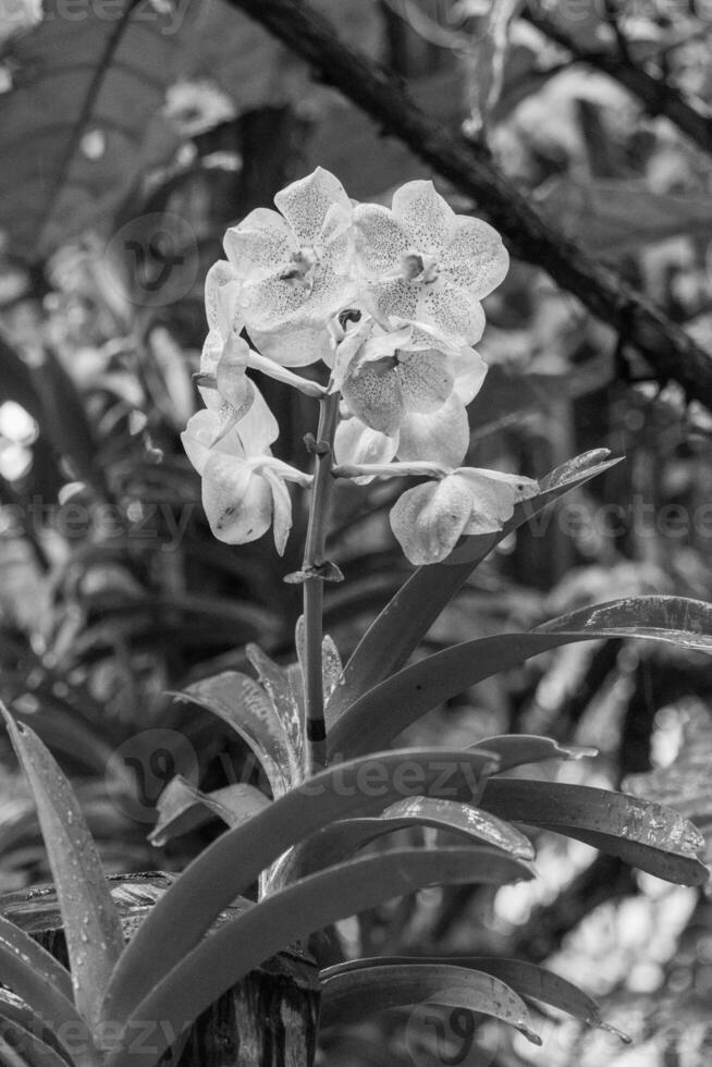
[[[452,128],[465,123],[544,218],[709,349],[709,8],[315,7],[428,113]],[[179,441],[197,403],[202,279],[226,225],[316,164],[351,195],[383,201],[430,172],[224,0],[140,0],[110,13],[95,0],[67,12],[60,0],[0,3],[0,696],[72,774],[110,870],[180,869],[219,829],[162,849],[147,843],[160,786],[188,770],[170,737],[188,738],[202,788],[244,776],[246,752],[170,692],[245,669],[247,641],[287,655],[299,600],[282,576],[298,567],[306,520],[297,499],[282,561],[267,538],[235,550],[210,536]],[[630,69],[658,85],[652,105],[630,91]],[[699,136],[666,114],[665,93],[702,116]],[[472,209],[439,187],[456,210]],[[626,594],[710,600],[711,413],[642,359],[624,363],[615,331],[531,263],[515,260],[487,305],[480,351],[490,372],[470,408],[468,462],[535,477],[591,447],[627,462],[503,541],[429,646]],[[278,454],[305,465],[312,402],[260,384],[279,413]],[[326,625],[343,654],[408,569],[386,522],[394,492],[339,486],[331,555],[346,581],[328,589]],[[664,799],[712,834],[711,695],[712,666],[697,653],[591,642],[476,687],[407,740],[529,732],[596,745],[597,761],[556,773]],[[171,759],[151,768],[149,788],[130,760],[109,761],[131,751],[143,765],[151,729],[165,731]],[[0,796],[0,886],[15,888],[47,871],[7,745]],[[624,1050],[610,1035],[552,1026],[538,1051],[486,1023],[488,1063],[709,1063],[709,900],[541,836],[533,883],[400,900],[340,924],[331,958],[430,951],[548,960],[575,981],[585,976],[639,1043]],[[323,1062],[434,1063],[433,1047],[404,1043],[401,1021],[328,1031]],[[443,1055],[447,1042],[453,1055],[462,1047],[456,1032],[442,1041]]]

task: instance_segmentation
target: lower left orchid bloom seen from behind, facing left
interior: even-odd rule
[[[285,483],[309,486],[311,476],[272,455],[269,446],[279,427],[257,387],[251,389],[249,410],[226,432],[221,431],[220,413],[206,408],[188,420],[181,440],[201,477],[202,506],[218,540],[245,544],[273,526],[282,555],[292,528]]]

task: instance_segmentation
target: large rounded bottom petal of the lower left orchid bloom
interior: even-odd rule
[[[272,520],[268,482],[244,461],[221,452],[205,465],[202,506],[213,535],[226,544],[256,541]]]

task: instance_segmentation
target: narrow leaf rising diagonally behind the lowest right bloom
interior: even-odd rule
[[[517,504],[502,530],[467,537],[443,563],[418,567],[381,611],[348,660],[343,683],[327,706],[327,724],[333,725],[361,694],[403,666],[443,608],[503,538],[572,489],[621,462],[609,457],[606,449],[599,449],[556,467],[540,481],[538,496]]]

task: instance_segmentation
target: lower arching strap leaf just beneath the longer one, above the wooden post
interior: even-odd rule
[[[285,945],[393,897],[429,885],[502,885],[523,878],[531,878],[526,863],[495,849],[472,847],[395,849],[319,871],[267,897],[201,941],[137,1005],[126,1033],[132,1031],[132,1018],[161,1019],[161,1032],[179,1032]],[[138,1052],[137,1057],[135,1051],[124,1048],[110,1055],[106,1067],[149,1067],[158,1058],[156,1046],[159,1055],[163,1051],[161,1044],[157,1035],[152,1053]]]

